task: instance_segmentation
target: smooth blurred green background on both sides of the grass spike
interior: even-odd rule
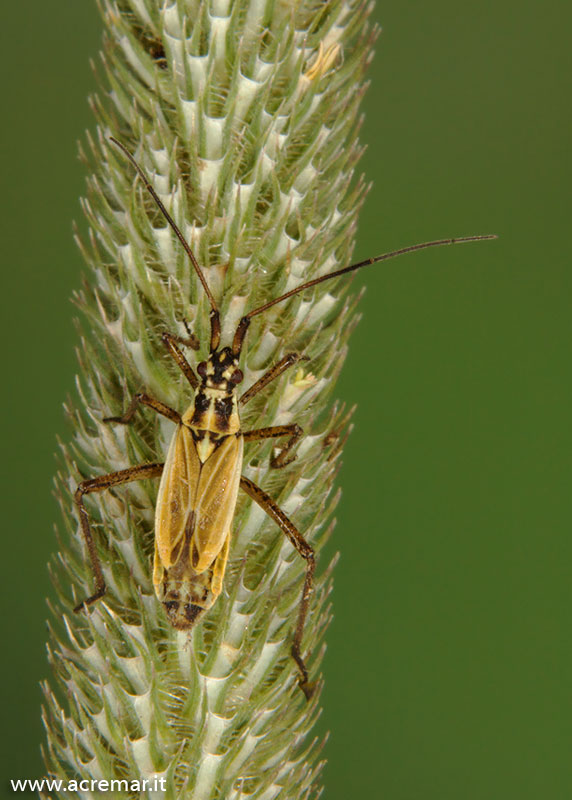
[[[72,219],[95,3],[3,9],[0,791],[43,774],[46,562],[73,391]],[[362,273],[339,394],[325,661],[328,800],[572,797],[568,0],[379,3],[356,256],[495,232]]]

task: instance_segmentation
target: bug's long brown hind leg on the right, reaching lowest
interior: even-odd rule
[[[294,633],[294,641],[292,643],[292,658],[298,665],[300,670],[300,688],[309,700],[315,689],[315,683],[310,683],[308,680],[308,668],[302,658],[301,646],[302,636],[304,634],[304,623],[308,614],[310,605],[310,598],[314,591],[314,570],[316,568],[316,559],[314,548],[304,539],[300,531],[290,522],[286,514],[278,508],[274,500],[266,494],[259,486],[253,483],[244,476],[240,479],[240,486],[258,505],[265,511],[268,516],[276,522],[280,530],[288,537],[292,545],[296,548],[298,553],[306,561],[306,578],[304,580],[304,588],[302,589],[302,598],[300,600],[300,610],[298,612],[298,622],[296,623],[296,631]]]

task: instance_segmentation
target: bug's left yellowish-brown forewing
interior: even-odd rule
[[[188,428],[180,425],[171,441],[163,468],[155,510],[157,561],[165,569],[176,564],[185,541],[187,524],[192,524],[201,462]]]

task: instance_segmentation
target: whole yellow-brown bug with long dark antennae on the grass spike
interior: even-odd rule
[[[276,522],[306,563],[291,653],[299,670],[300,687],[309,699],[314,684],[310,682],[308,668],[302,655],[302,637],[314,585],[314,549],[272,498],[241,474],[245,443],[285,438],[284,448],[279,455],[271,459],[272,467],[282,468],[295,459],[294,448],[303,431],[297,424],[243,431],[239,414],[239,409],[255,395],[265,390],[294,364],[307,358],[295,352],[286,353],[249,389],[239,395],[238,386],[243,380],[239,362],[251,320],[277,303],[282,303],[312,286],[354,272],[369,264],[428,247],[496,237],[468,236],[424,242],[321,275],[249,311],[240,320],[230,345],[221,347],[219,310],[190,245],[131,153],[121,142],[114,138],[111,141],[129,159],[191,261],[210,304],[210,347],[208,358],[198,364],[195,372],[179,346],[188,344],[196,349],[198,343],[194,337],[191,335],[188,340],[183,340],[167,332],[162,335],[167,353],[173,358],[194,391],[193,402],[183,414],[145,393],[140,393],[133,397],[122,416],[106,418],[106,422],[127,425],[139,406],[147,406],[171,420],[176,428],[164,463],[141,464],[90,478],[79,484],[75,492],[75,502],[93,569],[95,586],[93,594],[79,603],[74,610],[79,612],[95,603],[103,597],[106,590],[84,505],[85,495],[131,481],[160,478],[155,512],[153,583],[157,598],[163,604],[171,625],[177,630],[188,630],[212,607],[222,591],[237,495],[239,490],[242,490]]]

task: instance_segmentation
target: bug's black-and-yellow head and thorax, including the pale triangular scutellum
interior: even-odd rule
[[[211,353],[207,361],[198,365],[197,372],[201,384],[182,422],[193,431],[199,458],[204,461],[220,437],[240,431],[236,387],[243,375],[238,358],[229,347]]]

